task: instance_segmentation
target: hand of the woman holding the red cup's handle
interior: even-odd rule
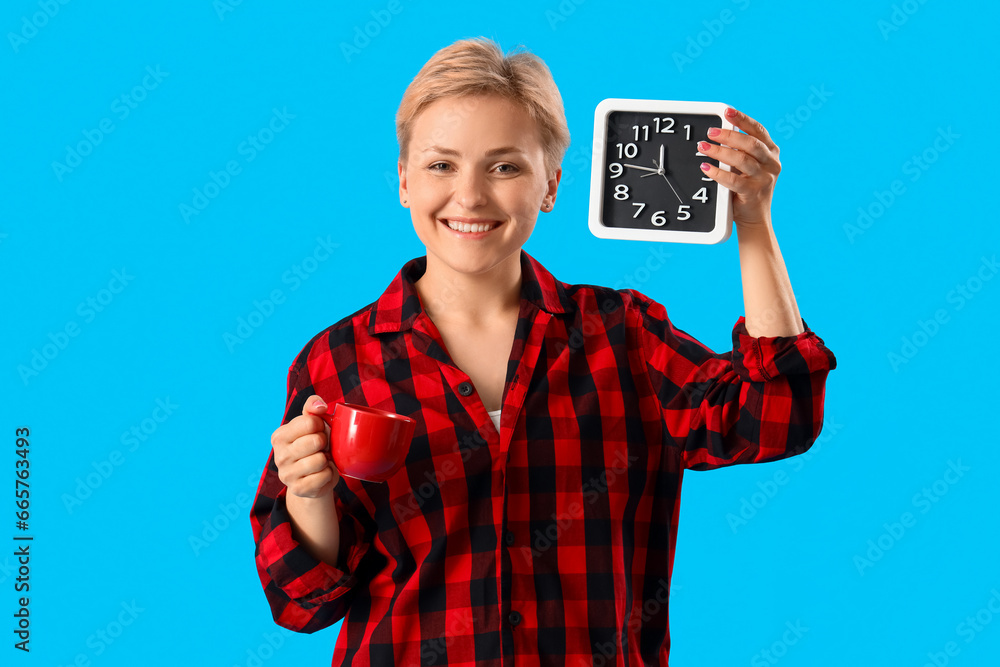
[[[278,479],[288,493],[302,498],[323,498],[333,493],[340,472],[330,456],[330,427],[316,416],[327,410],[319,396],[306,399],[302,414],[271,434]]]

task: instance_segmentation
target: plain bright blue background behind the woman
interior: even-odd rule
[[[1000,278],[984,263],[1000,234],[995,142],[981,131],[997,108],[995,4],[50,5],[0,15],[4,664],[329,663],[339,625],[305,635],[271,619],[250,499],[294,356],[425,253],[398,203],[394,114],[436,50],[479,35],[546,61],[572,134],[557,205],[525,249],[565,282],[652,296],[717,351],[744,313],[735,237],[593,237],[593,110],[605,97],[721,101],[781,148],[774,227],[802,315],[839,366],[810,454],[687,475],[671,664],[1000,655],[988,607],[1000,610]],[[275,109],[287,124],[251,160],[242,142]],[[102,123],[113,129],[75,167],[54,167],[88,152]],[[186,220],[181,205],[230,161],[239,173]],[[318,239],[339,245],[313,263]],[[669,259],[645,272],[654,251]],[[227,345],[275,290],[282,302]],[[67,325],[76,335],[60,335]],[[22,376],[36,352],[44,366]],[[171,406],[159,422],[157,401]],[[31,429],[30,655],[12,647],[19,426]],[[950,462],[967,470],[946,475]],[[735,523],[741,508],[750,518]],[[979,630],[960,625],[977,613]]]

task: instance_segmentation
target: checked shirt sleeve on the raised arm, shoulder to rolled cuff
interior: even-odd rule
[[[661,304],[629,292],[646,372],[684,468],[764,463],[812,446],[837,360],[804,319],[796,336],[755,337],[740,316],[732,350],[718,354],[674,327]]]

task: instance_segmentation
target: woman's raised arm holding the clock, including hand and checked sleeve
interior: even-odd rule
[[[663,306],[634,295],[640,349],[664,426],[692,470],[807,450],[822,429],[826,376],[837,363],[799,314],[771,226],[778,147],[746,114],[728,109],[726,116],[738,129],[710,129],[708,138],[719,144],[701,142],[698,150],[732,169],[703,165],[733,198],[746,317],[733,327],[732,350],[716,354],[675,328]]]

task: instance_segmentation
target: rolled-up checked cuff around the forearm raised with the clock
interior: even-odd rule
[[[744,381],[767,382],[780,375],[830,371],[837,358],[802,319],[795,336],[751,336],[746,317],[733,326],[733,368]]]

